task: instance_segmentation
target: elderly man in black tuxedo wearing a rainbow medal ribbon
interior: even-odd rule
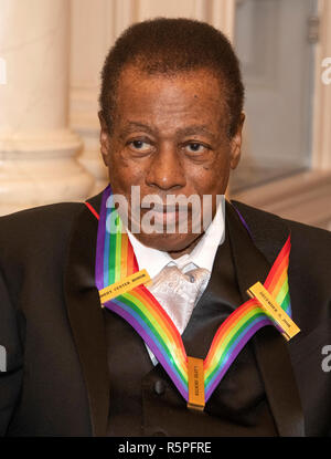
[[[0,220],[1,434],[330,434],[330,233],[217,200],[244,123],[231,44],[146,21],[102,77],[110,186]]]

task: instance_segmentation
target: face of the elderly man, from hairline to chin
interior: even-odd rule
[[[239,160],[242,124],[229,139],[228,108],[211,73],[197,70],[170,77],[127,67],[118,85],[113,118],[108,134],[100,115],[102,154],[113,192],[124,195],[129,204],[129,223],[131,186],[140,187],[142,201],[148,195],[157,195],[164,205],[170,195],[196,195],[201,205],[204,195],[212,195],[214,216],[216,195],[225,194],[229,169]],[[141,219],[151,212],[147,208],[139,210]],[[179,208],[174,211],[164,206],[158,210],[163,212],[153,213],[156,223],[166,223],[168,219],[177,225],[181,218]],[[203,228],[200,233],[192,230],[192,219],[190,208],[188,232],[179,231],[177,226],[175,232],[164,229],[162,233],[147,233],[142,226],[142,231],[135,236],[143,244],[175,258],[190,252],[203,232]]]

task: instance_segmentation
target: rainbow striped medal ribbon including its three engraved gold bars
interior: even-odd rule
[[[252,299],[221,324],[206,358],[188,356],[175,325],[145,285],[150,278],[146,270],[139,271],[132,246],[115,209],[110,186],[103,192],[99,217],[89,204],[86,205],[99,218],[95,282],[102,306],[120,315],[139,333],[189,408],[203,410],[238,353],[259,328],[274,325],[287,340],[299,332],[290,319],[289,237],[265,283],[252,285],[247,291]],[[113,231],[109,231],[110,221],[116,223]]]

